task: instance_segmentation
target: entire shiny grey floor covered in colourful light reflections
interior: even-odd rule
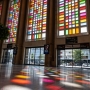
[[[90,71],[0,65],[0,90],[90,90]]]

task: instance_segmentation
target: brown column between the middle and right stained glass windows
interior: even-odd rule
[[[49,54],[45,55],[45,66],[55,66],[54,61],[55,42],[55,0],[48,0],[46,44],[50,45]]]

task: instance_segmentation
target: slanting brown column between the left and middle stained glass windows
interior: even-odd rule
[[[23,56],[24,56],[24,33],[25,33],[25,25],[26,25],[26,13],[27,13],[27,1],[28,0],[21,0],[21,9],[20,9],[20,17],[19,17],[19,25],[18,25],[18,32],[17,32],[17,41],[16,45],[18,47],[17,55],[15,56],[14,62],[15,64],[22,64],[23,63]]]

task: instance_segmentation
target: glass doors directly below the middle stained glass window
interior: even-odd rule
[[[24,64],[44,65],[44,47],[26,48]]]

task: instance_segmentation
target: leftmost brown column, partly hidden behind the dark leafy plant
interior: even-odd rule
[[[3,0],[1,2],[2,2],[2,15],[1,15],[0,23],[5,25],[9,0]],[[2,56],[2,42],[0,41],[0,59],[1,59],[1,56]]]

